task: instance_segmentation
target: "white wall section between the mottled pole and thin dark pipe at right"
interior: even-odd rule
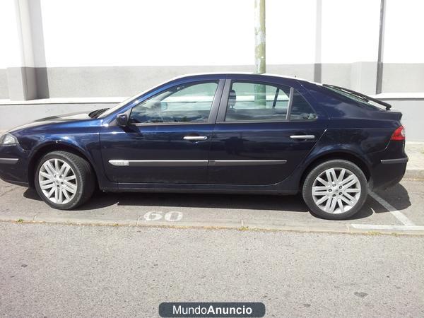
[[[376,61],[379,2],[267,0],[267,63]],[[321,18],[317,17],[320,3]]]

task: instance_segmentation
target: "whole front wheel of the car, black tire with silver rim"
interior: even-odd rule
[[[71,210],[93,195],[95,175],[87,160],[66,151],[54,151],[38,162],[34,184],[49,206]]]

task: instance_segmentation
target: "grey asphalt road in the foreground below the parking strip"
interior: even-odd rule
[[[0,313],[158,317],[264,302],[266,317],[423,317],[421,236],[0,223]]]

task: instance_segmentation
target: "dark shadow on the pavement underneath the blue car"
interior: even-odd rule
[[[41,201],[35,189],[27,189],[23,196]],[[369,200],[369,199],[368,199]],[[167,206],[172,208],[222,208],[237,210],[290,211],[309,213],[300,194],[296,196],[246,195],[246,194],[172,194],[172,193],[114,193],[95,192],[93,197],[75,211],[93,211],[108,206]],[[372,215],[369,204],[348,220],[358,220]],[[316,216],[318,218],[318,216]]]

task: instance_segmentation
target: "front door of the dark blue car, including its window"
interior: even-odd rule
[[[202,81],[167,88],[133,107],[128,126],[103,127],[100,142],[108,179],[206,183],[213,110],[222,87],[223,81]]]

